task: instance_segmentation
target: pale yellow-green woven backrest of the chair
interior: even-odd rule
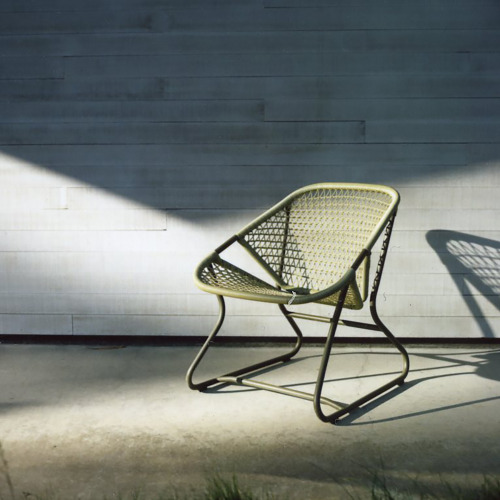
[[[295,191],[238,233],[242,244],[286,288],[321,290],[370,250],[399,203],[390,187],[324,183]],[[369,259],[356,281],[367,297]]]

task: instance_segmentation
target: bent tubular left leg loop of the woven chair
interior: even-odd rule
[[[226,307],[225,307],[225,303],[224,303],[224,298],[220,295],[217,295],[216,297],[217,297],[217,300],[219,302],[219,317],[217,319],[217,323],[215,324],[212,332],[208,336],[207,340],[203,344],[202,348],[200,349],[200,351],[198,352],[197,356],[195,357],[194,361],[191,363],[191,366],[188,369],[188,372],[186,375],[186,381],[187,381],[187,384],[188,384],[190,389],[204,391],[208,387],[216,385],[216,384],[228,383],[228,382],[235,383],[236,380],[231,380],[231,379],[234,379],[235,377],[238,377],[238,376],[243,375],[243,374],[255,372],[257,370],[260,370],[262,368],[266,368],[266,367],[271,366],[271,365],[275,365],[277,363],[289,361],[293,356],[295,356],[299,352],[299,350],[302,346],[302,339],[303,339],[302,332],[300,331],[300,329],[297,326],[297,324],[295,323],[295,321],[292,318],[289,318],[288,316],[285,315],[287,321],[290,323],[290,325],[292,326],[292,328],[297,336],[295,346],[293,347],[293,349],[291,351],[289,351],[285,354],[282,354],[280,356],[276,356],[274,358],[267,359],[265,361],[261,361],[260,363],[256,363],[256,364],[246,366],[244,368],[240,368],[238,370],[232,371],[230,373],[226,373],[226,374],[219,376],[219,377],[214,377],[214,378],[205,380],[203,382],[198,382],[198,383],[193,382],[193,375],[194,375],[196,368],[198,367],[198,365],[200,364],[202,359],[205,357],[205,354],[207,353],[208,348],[212,344],[212,341],[214,340],[215,336],[217,335],[217,333],[219,332],[219,330],[222,326],[222,323],[224,322],[224,318],[225,318],[225,314],[226,314]],[[283,308],[283,306],[280,305],[279,307],[280,307],[281,312],[283,314],[285,314],[285,312],[284,312],[285,309]]]

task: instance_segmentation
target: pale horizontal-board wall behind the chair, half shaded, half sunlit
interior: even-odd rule
[[[500,337],[499,47],[497,0],[1,2],[0,334],[204,335],[196,263],[354,181],[402,195],[395,333]]]

